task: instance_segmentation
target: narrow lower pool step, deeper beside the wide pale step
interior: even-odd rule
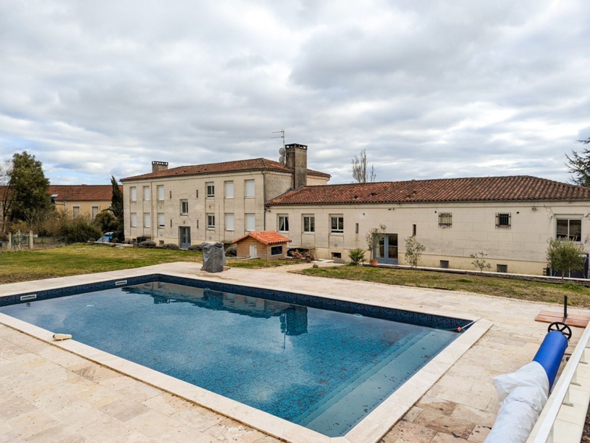
[[[359,371],[355,372],[348,379],[343,381],[339,386],[332,389],[331,392],[326,394],[319,402],[311,406],[307,411],[303,412],[300,416],[293,420],[293,422],[305,425],[311,421],[315,416],[322,414],[322,411],[329,408],[330,405],[339,401],[347,392],[351,391],[355,386],[358,386],[366,381],[371,375],[378,372],[383,366],[387,365],[392,359],[395,359],[398,355],[405,352],[410,346],[414,345],[418,340],[427,335],[428,330],[422,330],[418,333],[408,333],[401,339],[397,340],[393,345],[389,346],[386,351],[379,354],[375,360],[378,363],[368,363]]]

